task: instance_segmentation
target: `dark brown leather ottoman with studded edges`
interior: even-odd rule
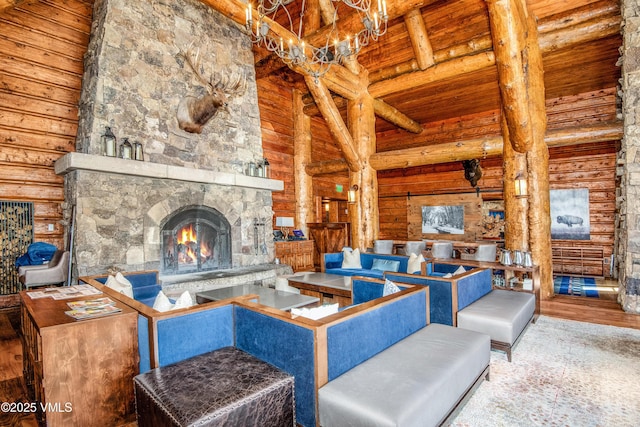
[[[136,376],[138,426],[294,426],[293,380],[221,348]]]

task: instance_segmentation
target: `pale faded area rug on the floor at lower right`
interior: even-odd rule
[[[640,330],[541,316],[454,427],[640,425]]]

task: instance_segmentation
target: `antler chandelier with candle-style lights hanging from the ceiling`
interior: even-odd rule
[[[344,3],[354,9],[360,21],[362,29],[355,34],[339,39],[336,22],[338,20],[337,8],[334,8],[331,31],[323,46],[310,46],[302,40],[304,32],[302,28],[306,1],[302,0],[300,19],[297,31],[294,22],[287,10],[287,5],[293,0],[258,0],[256,10],[258,20],[254,24],[253,7],[251,3],[246,9],[246,29],[251,34],[253,43],[264,46],[268,51],[275,53],[290,68],[299,67],[305,73],[318,78],[323,76],[331,65],[340,63],[343,59],[358,55],[360,49],[367,46],[371,40],[387,32],[387,3],[386,0],[377,0],[377,11],[371,11],[371,0],[331,0],[332,3]],[[283,40],[274,30],[274,23],[278,13],[284,13],[289,22],[289,31],[295,38]]]

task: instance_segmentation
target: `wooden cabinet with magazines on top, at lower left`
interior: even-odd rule
[[[137,313],[74,320],[68,301],[20,293],[24,379],[38,418],[48,426],[135,422]],[[44,411],[42,410],[44,408]]]

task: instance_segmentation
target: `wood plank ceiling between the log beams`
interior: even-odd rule
[[[298,13],[290,4],[292,15]],[[312,4],[313,2],[307,2]],[[452,58],[491,52],[489,18],[484,0],[427,1],[420,9],[436,66]],[[615,87],[620,77],[617,62],[621,45],[619,3],[611,0],[529,0],[529,10],[537,17],[543,52],[546,98],[575,96]],[[405,15],[406,16],[406,15]],[[386,35],[365,47],[358,56],[368,70],[370,91],[388,84],[385,78],[401,77],[402,72],[418,71],[405,16],[389,21]],[[267,53],[255,49],[259,78],[278,76],[307,92],[301,76],[277,61],[266,61]],[[274,65],[275,63],[275,65]],[[386,88],[378,98],[420,124],[428,124],[500,109],[495,65],[481,67],[455,77],[437,79],[402,90]],[[307,97],[308,114],[317,115],[313,99]],[[336,103],[344,113],[342,100]],[[378,118],[376,132],[394,131],[397,126]],[[403,131],[404,132],[404,131]],[[428,145],[425,141],[425,145]],[[379,138],[378,151],[385,147]]]

